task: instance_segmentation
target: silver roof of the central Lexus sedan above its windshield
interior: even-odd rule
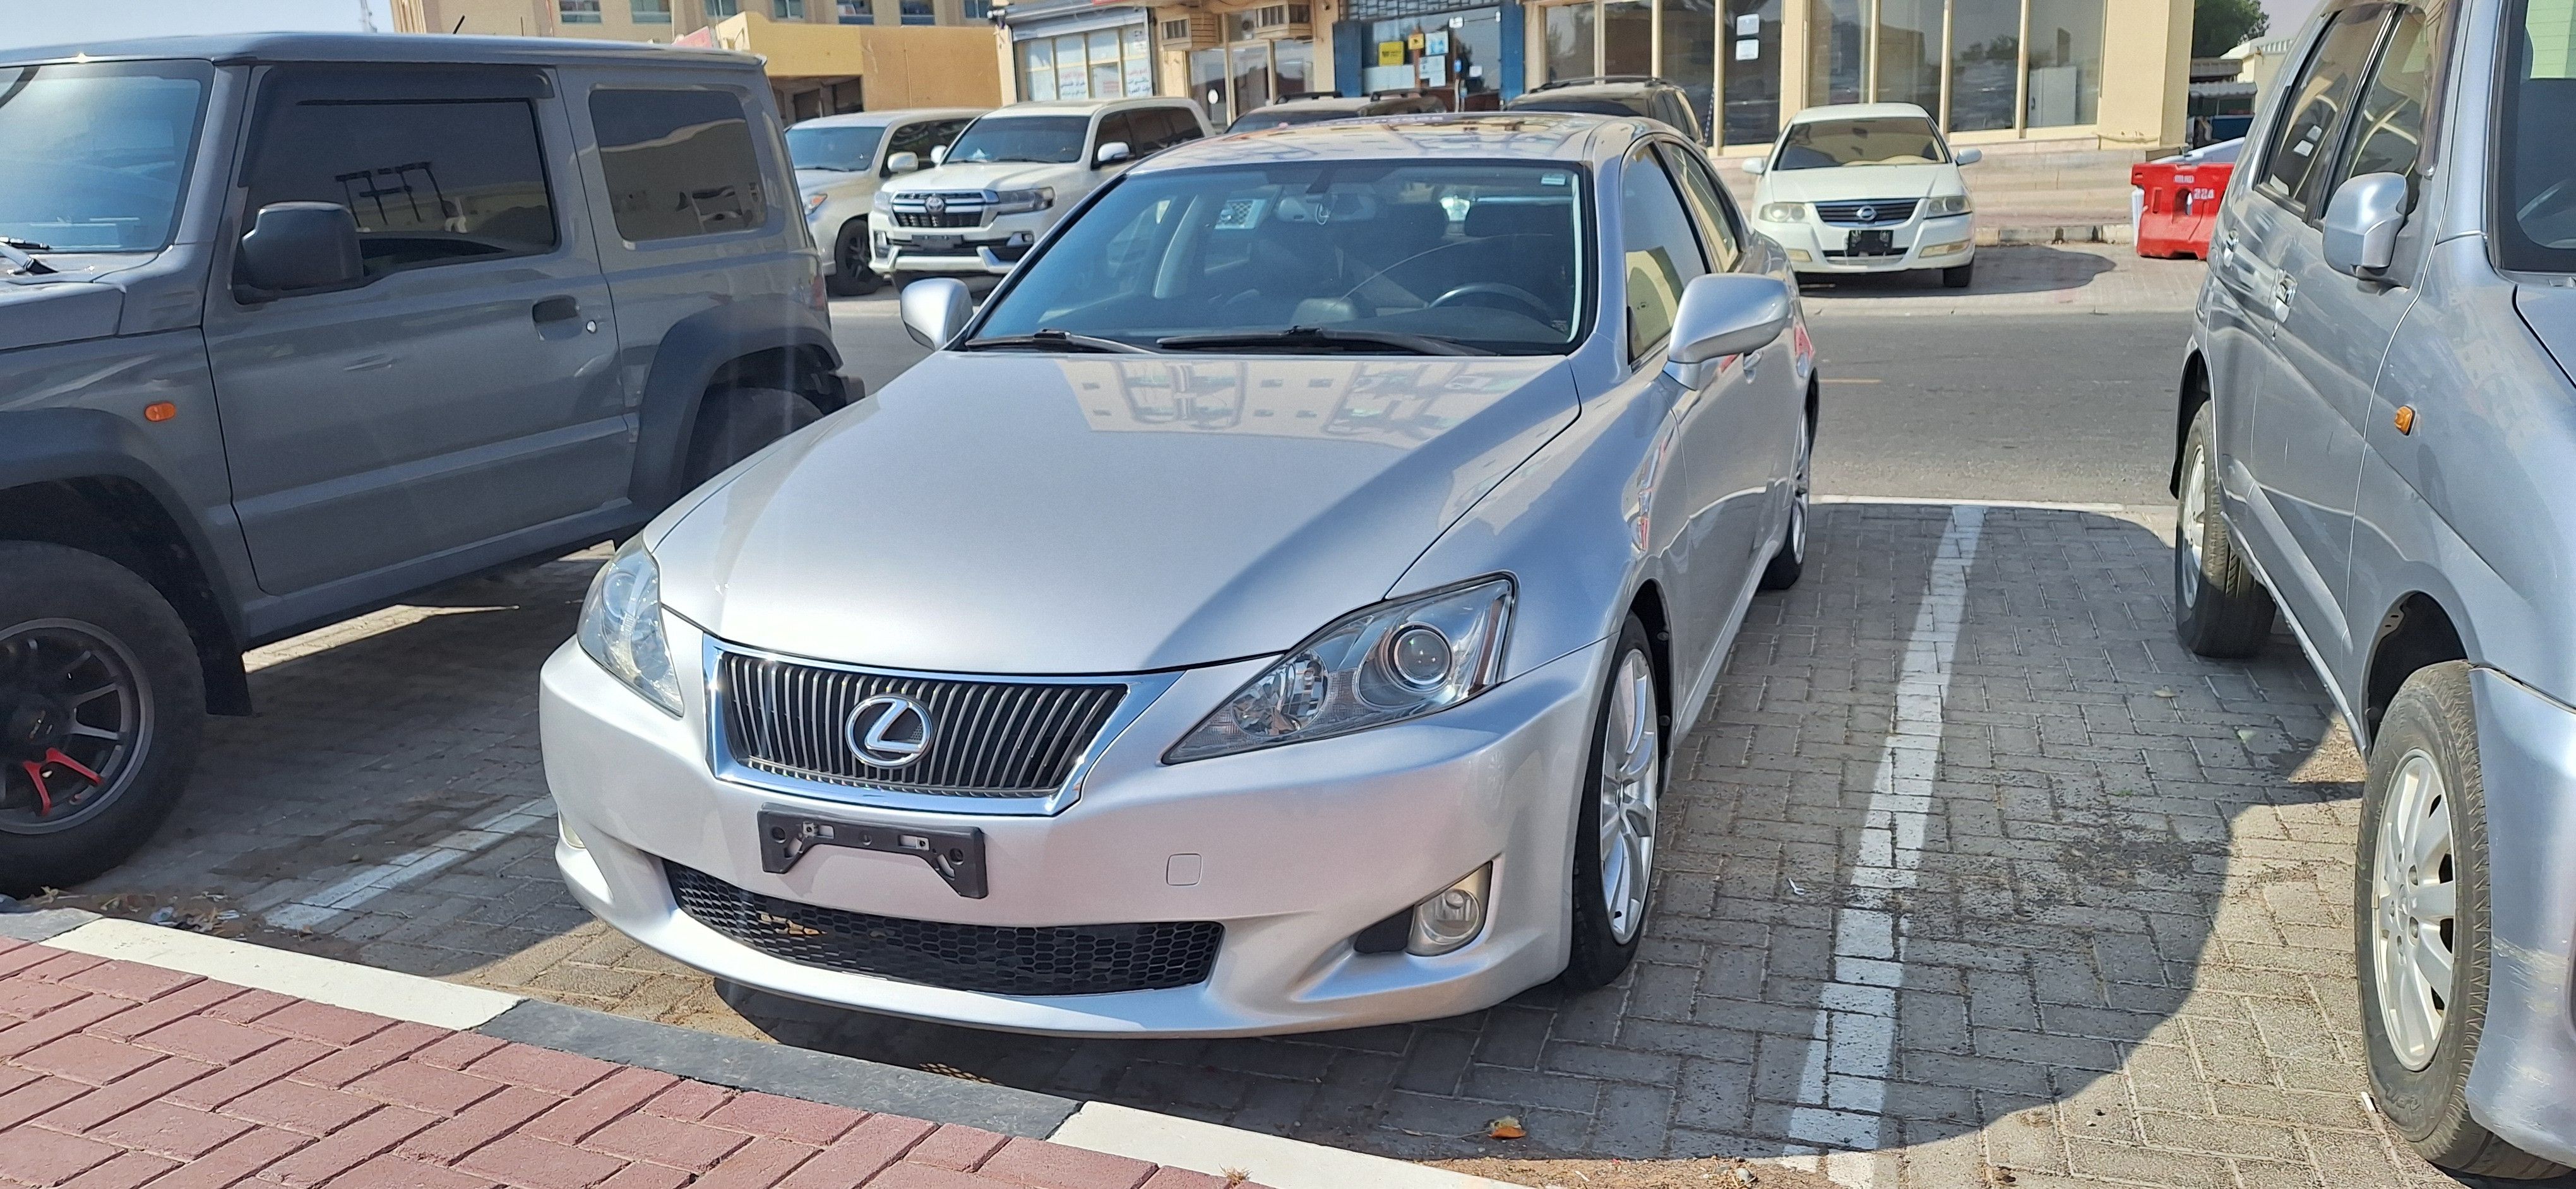
[[[1602,165],[1649,131],[1669,129],[1641,116],[1584,116],[1569,111],[1360,116],[1185,142],[1146,157],[1131,172],[1195,170],[1208,165],[1443,157]]]

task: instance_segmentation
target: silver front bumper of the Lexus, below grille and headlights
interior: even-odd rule
[[[701,636],[670,618],[675,656]],[[1267,661],[1193,669],[1082,777],[1056,816],[868,808],[716,780],[703,677],[670,718],[577,646],[541,679],[546,782],[582,844],[556,844],[574,896],[629,937],[719,978],[817,1004],[1048,1035],[1267,1035],[1476,1011],[1553,978],[1571,929],[1574,793],[1602,643],[1445,713],[1190,764],[1162,751]],[[690,664],[696,667],[696,664]],[[762,808],[987,839],[989,896],[904,854],[814,849],[760,865]],[[1195,862],[1182,862],[1193,857]],[[987,926],[1218,921],[1206,981],[1167,991],[1002,996],[804,965],[672,901],[662,862],[799,903]],[[1440,957],[1360,955],[1360,929],[1494,865],[1484,932]],[[1195,883],[1180,885],[1195,870]]]

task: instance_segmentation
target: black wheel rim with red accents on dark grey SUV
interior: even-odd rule
[[[152,739],[134,654],[80,620],[0,631],[0,831],[52,834],[98,816]]]

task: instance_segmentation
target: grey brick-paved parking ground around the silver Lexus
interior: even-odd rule
[[[726,1001],[585,921],[546,826],[510,818],[541,793],[536,661],[590,564],[263,667],[265,715],[222,723],[175,829],[90,890],[214,888],[374,965],[1412,1158],[1492,1153],[1466,1135],[1520,1114],[1517,1150],[1623,1158],[1868,1135],[1883,1186],[2445,1184],[2365,1112],[2360,770],[2298,651],[2184,656],[2154,530],[1989,510],[1953,566],[1947,685],[1901,697],[1950,525],[1819,510],[1806,584],[1757,602],[1682,741],[1643,963],[1592,996],[1221,1042]],[[492,818],[526,829],[469,829]],[[361,875],[389,890],[350,901]]]

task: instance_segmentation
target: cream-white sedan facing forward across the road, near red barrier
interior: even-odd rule
[[[1932,116],[1911,103],[1806,108],[1772,152],[1747,157],[1754,226],[1788,247],[1798,273],[1940,270],[1940,283],[1976,281],[1976,203]]]

